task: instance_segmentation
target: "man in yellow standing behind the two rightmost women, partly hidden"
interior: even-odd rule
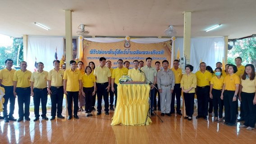
[[[235,58],[235,63],[238,67],[238,71],[236,72],[236,75],[238,75],[241,78],[241,75],[245,71],[245,66],[242,65],[242,58],[241,57]],[[238,108],[238,103],[237,103],[237,108]],[[238,114],[238,109],[237,109],[237,114]],[[242,103],[240,103],[240,115],[239,115],[239,117],[240,118],[238,119],[238,121],[244,121],[244,112],[243,112]]]

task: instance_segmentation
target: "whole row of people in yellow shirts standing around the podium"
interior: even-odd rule
[[[30,96],[34,100],[35,119],[40,117],[39,106],[41,101],[41,117],[46,117],[47,95],[50,95],[52,108],[51,118],[64,118],[62,113],[63,96],[66,94],[68,101],[68,119],[72,117],[78,119],[78,111],[83,111],[85,106],[86,117],[92,116],[92,111],[96,102],[97,94],[97,115],[101,115],[102,97],[105,102],[105,114],[109,115],[109,107],[114,110],[114,104],[117,103],[118,93],[117,85],[119,78],[123,74],[128,74],[133,81],[147,82],[151,86],[150,90],[150,109],[151,116],[154,116],[154,110],[158,106],[161,116],[171,116],[175,112],[174,99],[177,99],[177,114],[182,115],[180,110],[180,97],[183,92],[183,99],[186,107],[186,117],[188,121],[192,120],[194,113],[194,98],[197,95],[198,112],[196,118],[207,120],[208,112],[214,110],[214,121],[223,121],[223,108],[225,110],[225,122],[228,126],[236,123],[236,114],[238,114],[238,99],[241,101],[240,121],[245,123],[240,127],[247,127],[248,130],[254,129],[256,123],[256,77],[255,67],[252,64],[242,66],[242,58],[235,59],[236,66],[227,64],[225,70],[221,69],[222,63],[216,63],[215,71],[206,63],[200,63],[200,70],[192,73],[193,66],[185,66],[185,74],[182,74],[178,60],[174,60],[174,67],[169,69],[169,62],[155,62],[152,67],[152,58],[146,58],[146,65],[143,61],[133,61],[133,68],[129,69],[130,62],[122,59],[117,61],[118,67],[111,68],[111,61],[104,57],[99,59],[100,65],[95,67],[95,63],[90,62],[83,69],[83,62],[77,63],[70,61],[70,69],[62,70],[59,68],[59,60],[53,62],[54,69],[50,72],[43,70],[44,64],[37,63],[38,70],[30,72],[27,70],[27,63],[20,63],[21,69],[16,71],[12,69],[13,61],[5,61],[6,68],[0,71],[0,85],[5,88],[4,117],[5,122],[16,121],[13,117],[15,98],[18,96],[18,121],[29,118]],[[158,103],[156,103],[156,94],[158,94]],[[114,102],[115,95],[115,102]],[[237,96],[238,95],[238,96]],[[109,105],[110,96],[110,105]],[[238,98],[237,98],[238,97]],[[9,105],[9,114],[7,104]],[[72,111],[72,103],[74,105]]]

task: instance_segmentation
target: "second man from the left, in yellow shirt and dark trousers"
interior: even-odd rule
[[[30,121],[29,104],[30,104],[30,77],[32,72],[27,70],[27,62],[20,62],[20,70],[14,72],[14,96],[18,96],[18,120]],[[24,105],[24,107],[23,107]]]

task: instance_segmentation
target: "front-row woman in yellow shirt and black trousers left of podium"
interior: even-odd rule
[[[91,73],[91,67],[85,68],[86,73],[82,75],[82,95],[85,97],[85,116],[92,116],[93,95],[96,94],[96,78]]]

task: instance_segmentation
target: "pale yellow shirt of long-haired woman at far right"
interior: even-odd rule
[[[245,93],[255,93],[256,92],[256,76],[254,80],[250,80],[250,78],[243,80],[241,78],[240,84],[242,85],[242,92]]]

